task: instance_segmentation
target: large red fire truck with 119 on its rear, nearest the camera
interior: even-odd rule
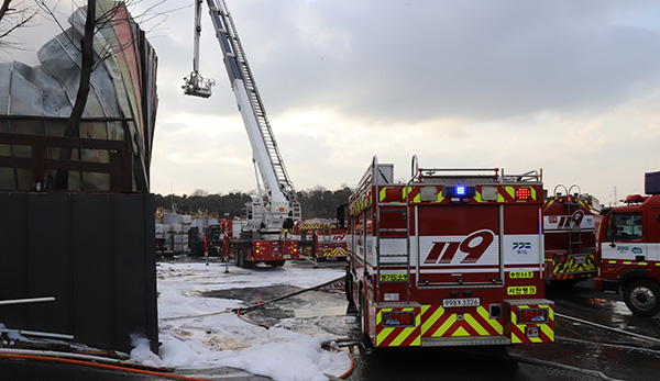
[[[376,347],[554,340],[540,171],[372,165],[348,206],[346,298]]]

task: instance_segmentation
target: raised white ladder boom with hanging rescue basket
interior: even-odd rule
[[[202,0],[196,1],[196,57],[194,60],[194,71],[186,78],[186,94],[208,97],[210,96],[210,86],[205,89],[204,79],[197,72],[198,68],[198,44],[201,26],[199,14]],[[243,47],[239,40],[233,20],[229,13],[224,0],[207,0],[209,13],[216,30],[216,37],[222,49],[224,66],[229,80],[237,97],[237,102],[250,144],[252,145],[253,159],[258,168],[258,173],[263,180],[264,192],[260,189],[260,194],[264,199],[264,209],[267,213],[279,215],[276,220],[286,217],[292,212],[294,220],[300,218],[300,206],[297,201],[294,183],[284,166],[282,154],[271,130],[271,124],[266,116],[266,110],[263,105],[256,83],[252,76],[250,66],[245,58]],[[212,83],[211,83],[212,85]],[[208,96],[207,96],[208,93]],[[258,183],[258,178],[257,178]],[[267,220],[267,216],[266,216]],[[278,223],[275,222],[274,225]],[[266,225],[270,224],[266,221]]]

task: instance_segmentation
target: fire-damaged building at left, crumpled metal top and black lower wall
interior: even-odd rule
[[[128,351],[157,345],[150,164],[157,57],[123,2],[94,35],[95,69],[77,132],[65,136],[80,78],[86,8],[38,49],[40,65],[0,63],[0,301],[8,328],[68,334]],[[56,178],[65,176],[65,187]]]

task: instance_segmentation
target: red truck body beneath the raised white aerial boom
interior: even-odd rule
[[[264,262],[273,267],[283,266],[286,260],[299,259],[298,242],[290,236],[280,235],[260,239],[255,229],[249,226],[249,218],[223,220],[222,257],[233,259],[238,267],[251,267]]]

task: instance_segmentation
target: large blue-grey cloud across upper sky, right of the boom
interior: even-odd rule
[[[594,112],[656,88],[660,32],[617,19],[647,4],[252,0],[229,5],[262,92],[276,94],[268,100],[271,110],[321,104],[356,117],[415,121]],[[323,33],[327,40],[314,44]]]

